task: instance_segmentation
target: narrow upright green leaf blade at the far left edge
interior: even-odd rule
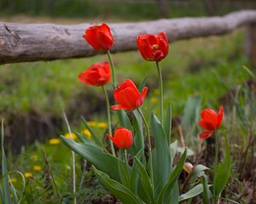
[[[4,131],[3,131],[3,120],[2,120],[1,149],[2,149],[3,197],[4,197],[4,203],[10,203],[9,178],[8,176],[4,176],[5,174],[8,173],[8,169],[7,169],[6,156],[3,148],[3,142],[4,142]]]

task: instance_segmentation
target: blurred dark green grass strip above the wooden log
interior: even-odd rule
[[[27,14],[65,18],[152,20],[226,14],[255,8],[253,0],[1,0],[1,15]],[[192,9],[191,9],[192,8]],[[139,11],[139,12],[137,12]]]

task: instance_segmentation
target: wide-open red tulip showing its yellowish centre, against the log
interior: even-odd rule
[[[169,51],[168,39],[165,32],[158,35],[143,34],[137,37],[137,47],[143,58],[148,61],[160,61]]]

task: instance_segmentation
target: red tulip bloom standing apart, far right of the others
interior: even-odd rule
[[[201,121],[199,125],[205,129],[204,132],[199,134],[200,139],[207,139],[212,136],[215,130],[221,125],[224,115],[224,107],[220,106],[218,113],[212,109],[205,109],[201,112]]]

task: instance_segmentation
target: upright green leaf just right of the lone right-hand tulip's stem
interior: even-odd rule
[[[228,183],[230,178],[230,171],[231,171],[231,156],[230,156],[230,145],[227,139],[227,135],[224,136],[225,139],[225,156],[224,161],[222,161],[218,165],[217,173],[214,175],[213,181],[213,192],[215,192],[215,197],[218,199],[219,195],[221,194],[222,190],[224,190],[225,185]]]

